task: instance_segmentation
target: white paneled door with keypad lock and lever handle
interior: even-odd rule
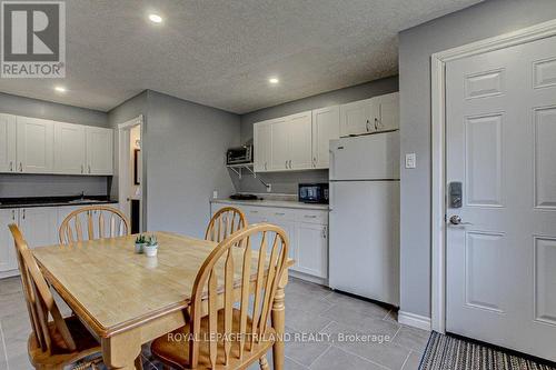
[[[555,361],[556,38],[448,62],[446,107],[447,331]]]

